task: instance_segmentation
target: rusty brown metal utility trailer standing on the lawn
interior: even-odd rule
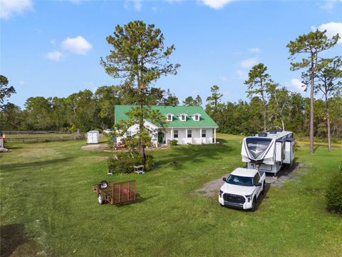
[[[100,204],[135,201],[135,181],[101,181],[93,185],[93,192],[98,194],[98,203]]]

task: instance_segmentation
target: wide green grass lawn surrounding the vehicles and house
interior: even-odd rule
[[[242,166],[241,138],[217,146],[151,151],[157,168],[106,175],[105,156],[85,141],[16,143],[1,153],[1,251],[14,256],[341,256],[342,219],[326,211],[324,189],[342,148],[304,144],[294,180],[271,187],[257,211],[222,208],[192,191]],[[179,161],[179,166],[172,166]],[[97,203],[100,180],[136,179],[138,201]],[[222,181],[223,183],[223,181]],[[1,255],[2,256],[2,255]]]

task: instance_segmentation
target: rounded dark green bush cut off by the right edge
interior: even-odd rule
[[[336,174],[326,188],[328,208],[336,213],[342,213],[342,173]]]

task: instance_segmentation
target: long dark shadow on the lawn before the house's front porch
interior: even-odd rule
[[[181,168],[182,163],[190,161],[192,163],[202,163],[207,159],[219,160],[221,158],[219,155],[222,153],[232,152],[232,146],[227,146],[224,144],[217,145],[190,145],[190,146],[175,146],[172,148],[172,152],[167,155],[167,158],[162,158],[157,161],[157,166],[162,166],[165,164],[174,163],[177,161],[179,165],[175,168]]]

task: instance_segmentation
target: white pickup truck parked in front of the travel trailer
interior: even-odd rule
[[[237,168],[219,190],[219,204],[255,211],[257,198],[265,193],[266,175],[254,168]]]

